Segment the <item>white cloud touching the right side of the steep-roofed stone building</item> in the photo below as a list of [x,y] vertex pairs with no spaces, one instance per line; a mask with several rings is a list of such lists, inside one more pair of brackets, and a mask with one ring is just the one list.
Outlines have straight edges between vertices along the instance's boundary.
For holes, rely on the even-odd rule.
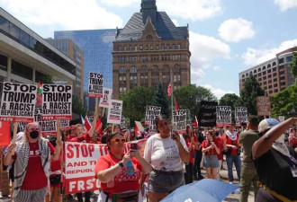
[[205,75],[203,69],[210,67],[213,59],[230,58],[228,44],[193,31],[190,31],[190,51],[192,83],[197,83]]

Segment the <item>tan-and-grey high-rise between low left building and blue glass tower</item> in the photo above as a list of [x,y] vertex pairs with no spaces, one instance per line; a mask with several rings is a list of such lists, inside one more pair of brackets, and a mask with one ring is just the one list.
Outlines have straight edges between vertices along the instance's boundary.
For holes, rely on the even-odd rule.
[[69,39],[46,40],[76,62],[76,80],[72,85],[73,93],[84,101],[84,51]]

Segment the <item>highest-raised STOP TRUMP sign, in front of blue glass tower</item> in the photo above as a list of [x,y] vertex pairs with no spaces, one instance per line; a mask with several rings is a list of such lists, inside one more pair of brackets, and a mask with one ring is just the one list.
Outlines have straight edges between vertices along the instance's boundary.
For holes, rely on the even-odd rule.
[[90,72],[88,96],[93,98],[103,97],[103,75]]

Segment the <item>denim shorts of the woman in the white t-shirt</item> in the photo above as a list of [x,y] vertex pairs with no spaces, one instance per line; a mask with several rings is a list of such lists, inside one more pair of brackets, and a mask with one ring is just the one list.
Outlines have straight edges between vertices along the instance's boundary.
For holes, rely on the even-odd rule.
[[149,172],[148,190],[156,193],[170,193],[184,185],[183,171],[157,171]]

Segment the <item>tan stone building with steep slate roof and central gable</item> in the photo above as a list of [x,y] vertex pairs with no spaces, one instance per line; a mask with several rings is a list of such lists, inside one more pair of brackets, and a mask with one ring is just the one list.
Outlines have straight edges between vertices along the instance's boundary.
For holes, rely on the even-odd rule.
[[142,0],[113,42],[113,97],[135,86],[167,87],[170,71],[174,87],[191,83],[188,26],[176,27],[165,12],[157,12],[156,0]]

